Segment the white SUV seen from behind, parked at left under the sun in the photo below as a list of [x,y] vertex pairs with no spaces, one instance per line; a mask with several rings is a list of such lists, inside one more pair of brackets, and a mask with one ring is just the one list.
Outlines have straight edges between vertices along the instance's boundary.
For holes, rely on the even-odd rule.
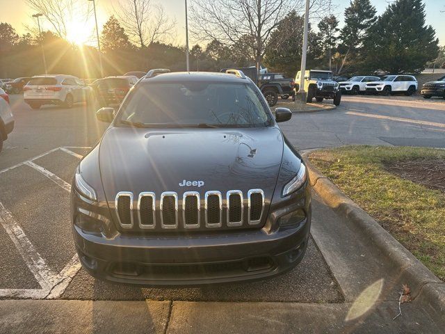
[[72,75],[42,75],[32,77],[23,88],[24,100],[32,109],[43,104],[63,105],[71,108],[76,102],[90,102],[92,88]]

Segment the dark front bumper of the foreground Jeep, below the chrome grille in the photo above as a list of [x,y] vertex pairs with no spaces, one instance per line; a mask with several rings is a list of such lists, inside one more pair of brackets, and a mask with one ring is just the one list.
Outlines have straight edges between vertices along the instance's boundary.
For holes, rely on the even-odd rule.
[[[261,229],[121,234],[110,222],[111,232],[104,234],[73,224],[74,244],[86,271],[115,283],[194,286],[270,278],[296,267],[305,254],[311,205],[309,186],[304,188],[289,205],[277,207]],[[75,190],[72,200],[75,220],[79,210]],[[305,211],[302,221],[282,230],[270,228],[297,209]]]

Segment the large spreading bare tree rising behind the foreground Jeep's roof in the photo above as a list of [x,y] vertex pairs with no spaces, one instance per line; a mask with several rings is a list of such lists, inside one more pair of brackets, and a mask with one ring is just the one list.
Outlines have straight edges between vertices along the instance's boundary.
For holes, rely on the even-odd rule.
[[[191,6],[191,31],[197,40],[218,40],[227,46],[243,38],[249,43],[259,69],[270,34],[291,10],[302,13],[304,3],[304,0],[195,0]],[[324,0],[312,0],[312,18],[326,10]],[[289,29],[282,38],[291,38],[293,31]]]

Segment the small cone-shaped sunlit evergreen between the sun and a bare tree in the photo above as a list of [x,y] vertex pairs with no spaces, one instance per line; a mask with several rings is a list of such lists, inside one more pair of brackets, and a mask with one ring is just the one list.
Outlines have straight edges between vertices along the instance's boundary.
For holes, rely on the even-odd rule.
[[104,24],[100,41],[104,52],[125,51],[132,47],[124,28],[113,15]]

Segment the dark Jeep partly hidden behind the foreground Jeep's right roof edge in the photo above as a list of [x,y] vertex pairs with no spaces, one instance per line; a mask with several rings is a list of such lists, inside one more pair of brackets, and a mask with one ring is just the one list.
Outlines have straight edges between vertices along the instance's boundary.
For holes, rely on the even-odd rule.
[[293,79],[285,78],[282,73],[266,73],[257,74],[256,67],[238,67],[234,69],[224,68],[221,72],[227,73],[229,70],[240,70],[247,77],[257,84],[261,93],[266,97],[269,106],[275,106],[278,102],[278,97],[286,100],[289,96],[293,97]]

